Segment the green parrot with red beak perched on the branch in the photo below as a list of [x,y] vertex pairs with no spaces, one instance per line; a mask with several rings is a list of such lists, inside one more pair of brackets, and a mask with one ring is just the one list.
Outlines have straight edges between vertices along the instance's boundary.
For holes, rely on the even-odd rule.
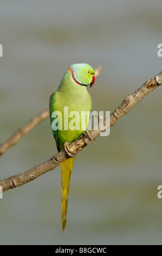
[[[86,87],[93,86],[95,81],[94,75],[93,68],[88,64],[72,64],[64,73],[59,88],[50,96],[50,123],[58,151],[64,149],[64,145],[67,142],[76,141],[87,130],[90,112],[92,111],[92,101]],[[85,119],[82,118],[84,111],[87,113]],[[79,115],[76,115],[76,112]],[[62,233],[67,223],[70,175],[73,170],[74,160],[74,157],[70,157],[60,164]]]

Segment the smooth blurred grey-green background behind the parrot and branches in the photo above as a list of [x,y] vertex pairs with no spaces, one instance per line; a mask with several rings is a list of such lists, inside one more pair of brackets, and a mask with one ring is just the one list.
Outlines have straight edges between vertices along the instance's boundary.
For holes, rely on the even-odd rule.
[[[161,0],[0,2],[0,142],[48,107],[70,64],[102,72],[92,108],[113,111],[162,70]],[[60,167],[0,199],[1,245],[162,244],[161,88],[77,154],[67,227]],[[49,120],[0,159],[0,179],[57,153]]]

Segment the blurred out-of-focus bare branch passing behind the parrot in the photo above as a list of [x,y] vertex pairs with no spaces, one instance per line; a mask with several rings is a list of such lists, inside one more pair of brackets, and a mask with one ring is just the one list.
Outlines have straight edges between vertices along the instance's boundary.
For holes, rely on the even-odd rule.
[[[101,66],[95,69],[95,78],[100,75],[101,69]],[[46,120],[48,117],[49,108],[36,115],[36,117],[32,118],[27,124],[22,126],[21,129],[16,131],[7,141],[0,145],[0,156],[2,156],[10,147],[16,145],[24,135],[33,130],[38,124]]]

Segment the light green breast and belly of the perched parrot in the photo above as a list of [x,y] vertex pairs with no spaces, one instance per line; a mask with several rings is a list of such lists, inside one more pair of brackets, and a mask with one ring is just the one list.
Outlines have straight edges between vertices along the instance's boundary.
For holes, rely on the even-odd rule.
[[91,105],[90,95],[85,86],[76,86],[75,84],[70,84],[69,86],[68,83],[67,86],[59,87],[51,95],[51,124],[55,120],[55,118],[51,117],[54,111],[59,111],[62,114],[62,116],[57,117],[58,124],[62,124],[62,130],[53,131],[54,136],[57,136],[59,141],[60,150],[63,149],[65,141],[75,141],[87,129]]

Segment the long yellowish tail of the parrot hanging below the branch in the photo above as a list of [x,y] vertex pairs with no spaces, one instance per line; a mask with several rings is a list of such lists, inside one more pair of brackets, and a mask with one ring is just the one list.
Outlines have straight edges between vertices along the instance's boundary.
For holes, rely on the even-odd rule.
[[69,187],[70,187],[70,176],[73,170],[74,165],[74,158],[69,158],[60,164],[61,170],[61,224],[62,224],[62,233],[64,228],[66,227],[66,216],[67,216],[67,209],[68,209],[68,194],[69,194]]

